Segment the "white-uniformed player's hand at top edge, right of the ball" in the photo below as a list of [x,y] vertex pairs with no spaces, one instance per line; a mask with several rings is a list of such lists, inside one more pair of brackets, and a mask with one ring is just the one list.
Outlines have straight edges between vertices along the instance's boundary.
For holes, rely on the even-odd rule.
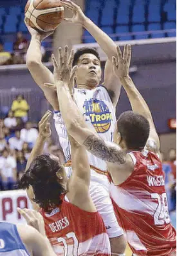
[[61,3],[64,7],[68,8],[69,10],[71,10],[71,12],[73,12],[73,17],[65,18],[64,21],[84,25],[84,21],[86,20],[87,17],[84,15],[84,12],[82,12],[82,9],[80,8],[80,6],[76,5],[70,0],[68,1],[61,0]]

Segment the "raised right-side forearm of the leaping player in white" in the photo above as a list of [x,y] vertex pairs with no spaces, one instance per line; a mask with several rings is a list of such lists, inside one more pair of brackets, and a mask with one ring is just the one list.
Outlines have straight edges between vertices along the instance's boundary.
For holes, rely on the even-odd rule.
[[85,19],[83,27],[88,30],[88,32],[95,38],[100,48],[106,53],[107,57],[111,59],[116,56],[116,44],[115,42],[107,36],[100,28],[93,23],[88,17]]

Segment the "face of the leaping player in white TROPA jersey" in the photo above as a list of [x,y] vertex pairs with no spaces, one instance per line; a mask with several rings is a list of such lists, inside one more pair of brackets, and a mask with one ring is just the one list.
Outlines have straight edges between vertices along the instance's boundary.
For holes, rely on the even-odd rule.
[[78,87],[94,88],[101,80],[101,67],[99,59],[93,54],[83,54],[77,63],[76,81]]

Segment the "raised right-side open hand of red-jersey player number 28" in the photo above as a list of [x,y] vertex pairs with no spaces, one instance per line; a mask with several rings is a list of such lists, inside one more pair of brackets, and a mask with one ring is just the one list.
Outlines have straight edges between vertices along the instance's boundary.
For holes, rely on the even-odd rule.
[[131,63],[131,45],[126,45],[124,47],[124,54],[119,47],[117,48],[117,56],[112,59],[113,62],[113,72],[118,78],[126,78],[129,76],[129,67]]

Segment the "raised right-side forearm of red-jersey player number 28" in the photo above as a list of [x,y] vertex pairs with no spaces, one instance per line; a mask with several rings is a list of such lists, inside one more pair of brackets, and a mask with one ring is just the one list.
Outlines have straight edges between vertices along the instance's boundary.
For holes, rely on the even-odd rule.
[[130,77],[126,77],[121,78],[120,81],[122,82],[122,86],[127,93],[132,110],[138,114],[142,114],[142,116],[147,119],[152,118],[151,111],[149,110],[147,103],[145,102],[138,89],[136,89],[133,80],[131,80]]

